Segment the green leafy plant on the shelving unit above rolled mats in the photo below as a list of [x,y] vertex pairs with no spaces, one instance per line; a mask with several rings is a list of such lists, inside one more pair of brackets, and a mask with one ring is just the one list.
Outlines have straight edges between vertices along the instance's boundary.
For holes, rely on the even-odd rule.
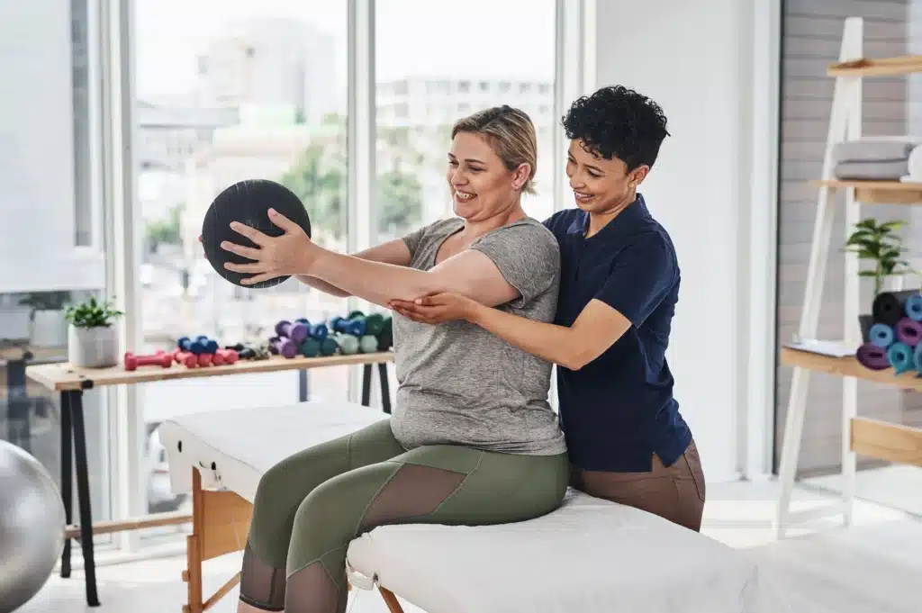
[[903,246],[902,237],[896,233],[905,225],[902,219],[882,223],[874,218],[862,219],[855,224],[856,230],[845,242],[846,252],[857,253],[858,259],[869,260],[873,264],[872,268],[858,272],[858,276],[874,279],[874,296],[881,293],[886,277],[916,272],[903,259],[903,253],[908,250]]

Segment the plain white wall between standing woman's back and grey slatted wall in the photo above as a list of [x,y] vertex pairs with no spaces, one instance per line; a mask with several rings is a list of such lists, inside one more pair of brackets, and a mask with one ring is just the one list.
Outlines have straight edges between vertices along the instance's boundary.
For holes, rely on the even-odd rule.
[[[774,156],[772,138],[751,141],[759,81],[752,76],[753,41],[765,39],[753,28],[760,2],[772,4],[597,0],[596,6],[595,85],[636,88],[668,117],[672,136],[642,192],[679,253],[682,287],[668,360],[709,481],[751,468],[744,446],[748,390],[757,383],[748,379],[750,352],[761,351],[774,368],[765,355],[770,349],[750,337],[750,266],[767,259],[751,252],[767,244],[767,235],[750,230],[753,202],[765,204],[751,196],[752,164]],[[771,270],[762,274],[774,277]],[[765,311],[774,312],[771,306]],[[760,436],[768,421],[760,422]]]

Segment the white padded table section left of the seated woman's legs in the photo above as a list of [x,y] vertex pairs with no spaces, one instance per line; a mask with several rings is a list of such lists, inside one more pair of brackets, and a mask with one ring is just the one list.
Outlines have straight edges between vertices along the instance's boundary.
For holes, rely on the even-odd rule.
[[359,404],[302,402],[183,415],[160,424],[159,434],[173,493],[192,491],[197,466],[203,489],[230,489],[253,502],[260,477],[278,461],[384,418],[379,409]]

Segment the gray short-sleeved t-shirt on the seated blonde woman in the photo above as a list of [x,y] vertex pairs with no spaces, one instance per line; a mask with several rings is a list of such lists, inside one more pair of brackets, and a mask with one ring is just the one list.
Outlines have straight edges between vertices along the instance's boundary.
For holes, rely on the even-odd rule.
[[[464,227],[443,219],[408,234],[410,266],[428,270],[442,243]],[[520,297],[502,311],[552,322],[560,285],[557,240],[526,218],[480,237]],[[468,322],[419,324],[394,314],[397,395],[391,429],[405,448],[461,444],[508,454],[561,454],[563,434],[548,402],[551,364]]]

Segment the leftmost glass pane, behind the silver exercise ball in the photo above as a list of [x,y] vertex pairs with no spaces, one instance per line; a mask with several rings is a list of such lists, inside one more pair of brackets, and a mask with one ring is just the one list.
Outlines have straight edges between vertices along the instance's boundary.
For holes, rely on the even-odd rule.
[[[85,1],[0,4],[0,440],[31,454],[61,486],[59,395],[30,380],[30,366],[67,360],[65,307],[102,289],[68,287],[74,248],[89,243],[89,58]],[[28,35],[23,35],[28,32]],[[41,75],[41,78],[36,78]],[[48,181],[48,177],[55,177]],[[28,277],[10,274],[27,261]],[[98,262],[84,265],[81,273]],[[99,273],[99,270],[95,272]],[[99,277],[102,277],[99,275]],[[21,283],[20,283],[21,281]],[[83,395],[90,507],[112,518],[105,396]],[[72,456],[72,521],[78,522]],[[110,536],[94,538],[104,548]],[[79,545],[73,542],[75,566]]]

